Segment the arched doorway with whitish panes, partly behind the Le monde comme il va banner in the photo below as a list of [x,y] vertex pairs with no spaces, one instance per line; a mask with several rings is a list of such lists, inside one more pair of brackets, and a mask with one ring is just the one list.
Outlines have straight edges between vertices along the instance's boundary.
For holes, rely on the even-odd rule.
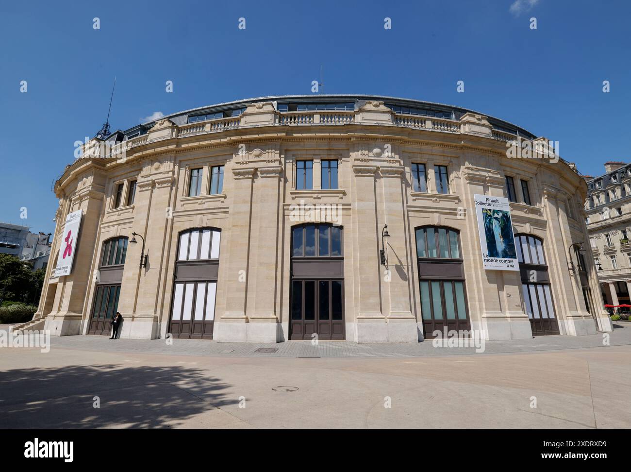
[[531,234],[515,235],[521,288],[533,336],[559,334],[554,312],[543,240]]

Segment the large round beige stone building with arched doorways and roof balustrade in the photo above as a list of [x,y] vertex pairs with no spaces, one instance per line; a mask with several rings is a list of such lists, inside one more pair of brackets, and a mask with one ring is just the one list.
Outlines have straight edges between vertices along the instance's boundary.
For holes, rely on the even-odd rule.
[[[511,143],[545,138],[365,95],[251,98],[92,139],[54,186],[52,259],[30,326],[107,335],[118,310],[121,337],[142,339],[610,331],[591,253],[579,251],[586,182],[558,156],[509,155]],[[485,269],[480,196],[510,201],[509,226],[492,236],[519,259],[510,270]]]

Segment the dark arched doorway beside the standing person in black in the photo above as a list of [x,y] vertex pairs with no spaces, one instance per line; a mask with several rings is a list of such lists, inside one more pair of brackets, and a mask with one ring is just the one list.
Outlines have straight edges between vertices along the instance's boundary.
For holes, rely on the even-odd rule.
[[112,316],[121,296],[122,272],[127,256],[127,237],[114,237],[103,242],[98,265],[98,281],[88,334],[109,334]]

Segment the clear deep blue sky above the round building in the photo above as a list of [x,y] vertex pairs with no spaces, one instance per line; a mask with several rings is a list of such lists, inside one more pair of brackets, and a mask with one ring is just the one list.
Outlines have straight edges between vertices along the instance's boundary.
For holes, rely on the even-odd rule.
[[[94,136],[105,121],[114,76],[110,124],[126,129],[155,112],[310,93],[322,64],[326,93],[478,110],[559,141],[561,156],[581,172],[602,174],[606,160],[630,158],[630,4],[3,2],[0,221],[54,230],[50,184],[73,161],[74,141]],[[237,28],[240,17],[245,30]],[[167,80],[174,93],[165,92]]]

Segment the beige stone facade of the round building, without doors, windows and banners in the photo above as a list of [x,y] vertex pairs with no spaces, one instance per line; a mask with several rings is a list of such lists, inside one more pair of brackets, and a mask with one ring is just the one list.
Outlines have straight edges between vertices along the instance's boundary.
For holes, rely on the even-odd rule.
[[[512,223],[515,233],[543,242],[560,334],[611,330],[591,255],[582,274],[568,264],[570,245],[587,244],[582,204],[587,186],[574,167],[563,160],[507,158],[507,142],[517,135],[498,126],[497,119],[468,110],[454,109],[451,117],[411,115],[386,106],[385,97],[352,97],[355,109],[343,111],[281,107],[292,100],[336,103],[348,102],[348,97],[245,100],[223,106],[242,107],[239,115],[201,121],[191,121],[193,112],[170,115],[144,125],[146,133],[117,146],[114,151],[122,150],[122,155],[103,151],[96,138],[90,141],[55,186],[54,258],[36,317],[52,334],[89,333],[100,302],[95,297],[99,277],[104,277],[105,243],[117,237],[131,240],[136,232],[146,240],[147,258],[141,266],[141,244],[127,247],[119,282],[118,310],[125,317],[121,337],[165,338],[177,298],[179,237],[191,228],[214,228],[221,243],[213,339],[290,339],[292,228],[304,223],[296,221],[297,208],[321,204],[339,213],[336,223],[343,228],[347,341],[423,339],[415,228],[424,226],[459,234],[471,328],[484,331],[487,339],[530,338],[520,273],[483,269],[473,203],[474,194],[506,196],[505,177],[510,175],[529,182],[531,204],[524,203],[518,189],[510,204]],[[406,103],[431,109],[425,102]],[[442,105],[435,108],[447,113]],[[301,160],[312,162],[312,188],[300,188]],[[337,162],[337,188],[324,188],[321,182],[325,160]],[[413,163],[425,164],[425,191],[413,188]],[[211,192],[213,167],[220,165],[223,188]],[[447,168],[447,193],[438,192],[435,166]],[[201,191],[194,194],[190,186],[199,168]],[[120,195],[124,199],[132,186],[133,203],[121,203]],[[83,209],[83,221],[73,271],[52,278],[64,218],[78,209]],[[386,224],[387,265],[382,265]],[[591,314],[582,286],[591,288]]]

